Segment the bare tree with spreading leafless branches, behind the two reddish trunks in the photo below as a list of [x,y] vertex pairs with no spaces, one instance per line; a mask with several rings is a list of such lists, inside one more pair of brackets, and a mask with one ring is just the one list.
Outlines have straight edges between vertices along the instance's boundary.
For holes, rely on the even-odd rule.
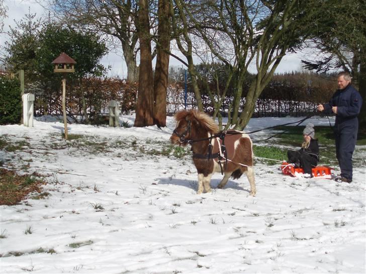
[[[137,2],[133,0],[52,0],[51,9],[64,22],[104,34],[122,46],[127,65],[127,80],[138,81]],[[111,39],[112,38],[112,39]]]

